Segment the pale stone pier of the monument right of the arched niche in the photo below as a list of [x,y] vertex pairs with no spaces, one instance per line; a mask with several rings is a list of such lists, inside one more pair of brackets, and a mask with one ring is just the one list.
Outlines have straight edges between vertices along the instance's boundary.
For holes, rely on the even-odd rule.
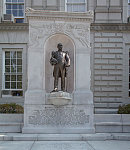
[[[74,104],[93,104],[93,93],[90,90],[90,23],[83,24],[82,28],[83,31],[81,32],[82,34],[80,34],[82,35],[82,42],[76,44]],[[77,41],[75,41],[75,43],[77,43]]]

